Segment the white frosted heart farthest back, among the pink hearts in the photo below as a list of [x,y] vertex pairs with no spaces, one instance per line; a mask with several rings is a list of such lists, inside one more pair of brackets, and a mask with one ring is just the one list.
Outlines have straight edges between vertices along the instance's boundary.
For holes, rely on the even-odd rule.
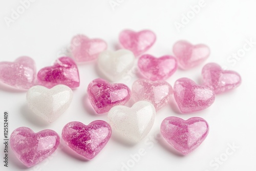
[[134,61],[133,52],[126,49],[103,51],[98,56],[98,69],[106,78],[114,82],[132,69]]

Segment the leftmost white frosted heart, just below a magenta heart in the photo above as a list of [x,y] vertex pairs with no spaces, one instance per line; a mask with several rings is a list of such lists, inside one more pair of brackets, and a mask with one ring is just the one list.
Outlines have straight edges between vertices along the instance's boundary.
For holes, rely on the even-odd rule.
[[34,114],[50,123],[69,108],[72,98],[73,91],[62,84],[51,89],[34,86],[27,92],[29,108]]

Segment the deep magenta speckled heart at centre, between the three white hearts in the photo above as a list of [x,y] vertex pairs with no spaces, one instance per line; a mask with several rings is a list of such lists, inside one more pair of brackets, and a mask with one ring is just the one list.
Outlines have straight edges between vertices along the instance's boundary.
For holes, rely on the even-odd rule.
[[87,93],[98,114],[109,112],[115,105],[124,105],[131,97],[131,91],[125,84],[110,84],[101,78],[90,82]]

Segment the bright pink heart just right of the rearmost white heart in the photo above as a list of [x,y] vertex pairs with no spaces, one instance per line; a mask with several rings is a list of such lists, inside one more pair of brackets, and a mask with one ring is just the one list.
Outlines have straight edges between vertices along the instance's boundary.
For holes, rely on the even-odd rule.
[[150,80],[165,80],[177,70],[177,59],[173,56],[155,58],[151,55],[142,55],[138,60],[141,74]]

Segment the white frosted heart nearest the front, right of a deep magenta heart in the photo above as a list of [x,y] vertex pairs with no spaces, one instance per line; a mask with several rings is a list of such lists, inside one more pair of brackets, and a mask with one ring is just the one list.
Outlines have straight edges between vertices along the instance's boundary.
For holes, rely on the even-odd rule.
[[156,110],[153,104],[138,101],[132,108],[123,105],[114,106],[108,113],[108,121],[114,134],[136,143],[150,132],[155,116]]

